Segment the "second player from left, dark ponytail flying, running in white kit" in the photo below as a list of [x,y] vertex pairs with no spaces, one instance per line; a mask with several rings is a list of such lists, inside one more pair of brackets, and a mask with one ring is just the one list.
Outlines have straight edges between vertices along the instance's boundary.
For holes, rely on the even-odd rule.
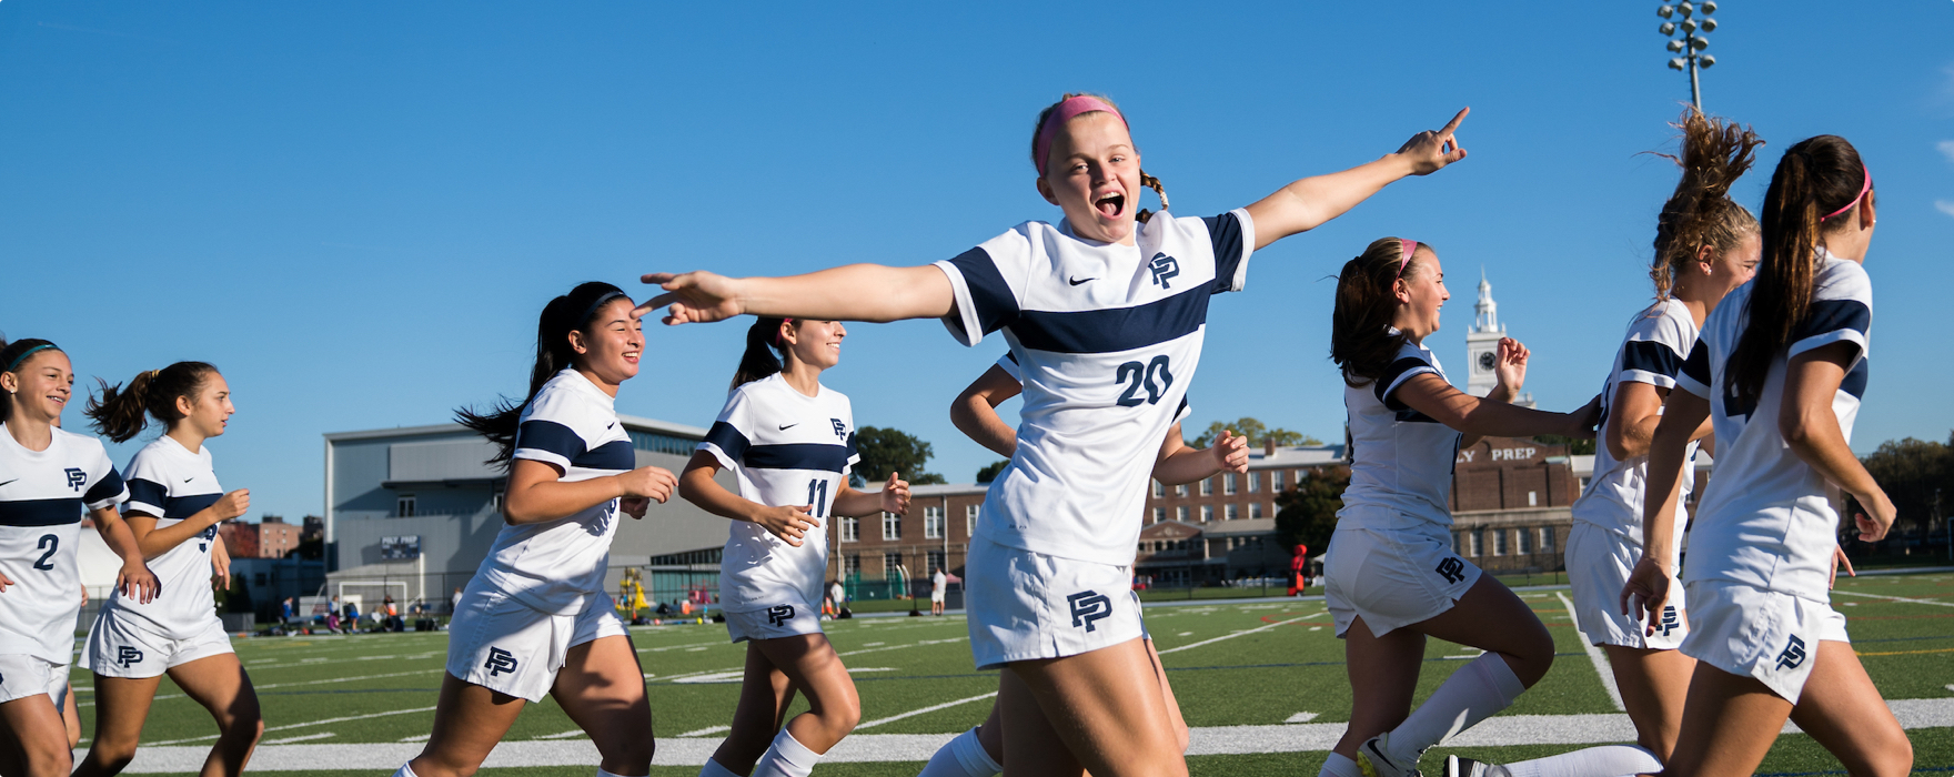
[[82,666],[96,675],[96,734],[76,775],[115,775],[135,759],[164,674],[217,720],[207,777],[242,773],[258,748],[258,693],[211,595],[215,562],[229,566],[217,525],[250,510],[250,490],[227,494],[217,484],[205,445],[225,433],[234,412],[231,385],[203,361],[149,369],[127,387],[102,383],[102,396],[88,402],[96,431],[117,443],[143,433],[150,418],[164,426],[125,470],[125,521],[162,593],[152,601],[109,593],[88,629]]

